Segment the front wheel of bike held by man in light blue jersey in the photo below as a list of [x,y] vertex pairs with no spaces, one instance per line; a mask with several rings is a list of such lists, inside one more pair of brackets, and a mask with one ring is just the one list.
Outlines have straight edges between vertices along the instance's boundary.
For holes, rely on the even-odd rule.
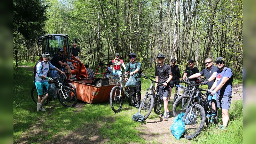
[[75,107],[77,103],[76,92],[68,86],[62,86],[61,90],[58,90],[58,99],[60,103],[64,107]]

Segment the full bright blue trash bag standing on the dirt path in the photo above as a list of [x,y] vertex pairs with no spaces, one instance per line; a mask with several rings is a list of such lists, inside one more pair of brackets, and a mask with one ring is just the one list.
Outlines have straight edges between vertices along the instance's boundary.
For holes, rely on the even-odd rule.
[[174,118],[173,123],[171,125],[172,135],[177,140],[180,140],[180,137],[183,135],[185,131],[185,124],[182,121],[183,116],[184,116],[184,113],[180,113],[178,116]]

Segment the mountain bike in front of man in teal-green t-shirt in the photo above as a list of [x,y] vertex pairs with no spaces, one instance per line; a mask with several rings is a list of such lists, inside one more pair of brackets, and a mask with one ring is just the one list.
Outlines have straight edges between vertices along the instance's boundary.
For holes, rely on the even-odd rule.
[[121,111],[123,106],[123,97],[125,99],[128,99],[128,103],[130,106],[134,105],[130,88],[124,87],[125,82],[123,76],[125,75],[127,76],[130,74],[113,75],[114,79],[117,79],[119,77],[119,81],[117,81],[116,86],[111,89],[109,96],[110,107],[115,113]]

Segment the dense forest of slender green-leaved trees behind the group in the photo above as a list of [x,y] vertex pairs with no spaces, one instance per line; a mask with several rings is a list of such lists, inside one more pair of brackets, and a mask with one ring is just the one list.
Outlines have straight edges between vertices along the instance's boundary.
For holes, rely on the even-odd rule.
[[120,53],[125,63],[135,52],[142,68],[177,59],[181,71],[193,59],[224,57],[226,66],[243,70],[242,0],[14,0],[13,58],[35,62],[42,53],[38,37],[68,34],[77,38],[80,60],[91,68]]

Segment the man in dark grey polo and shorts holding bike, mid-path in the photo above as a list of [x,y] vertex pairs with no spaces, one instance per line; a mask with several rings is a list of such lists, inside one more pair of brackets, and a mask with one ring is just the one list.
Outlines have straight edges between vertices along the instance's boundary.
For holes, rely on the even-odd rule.
[[[163,85],[158,86],[159,96],[164,101],[164,114],[160,115],[164,116],[164,121],[168,120],[168,116],[170,116],[170,111],[168,108],[168,96],[169,96],[169,85],[172,80],[172,70],[171,67],[164,63],[164,54],[158,54],[157,61],[159,65],[156,67],[155,76],[156,82],[163,83]],[[157,83],[155,83],[155,90],[157,89]],[[156,91],[155,91],[156,92]]]

